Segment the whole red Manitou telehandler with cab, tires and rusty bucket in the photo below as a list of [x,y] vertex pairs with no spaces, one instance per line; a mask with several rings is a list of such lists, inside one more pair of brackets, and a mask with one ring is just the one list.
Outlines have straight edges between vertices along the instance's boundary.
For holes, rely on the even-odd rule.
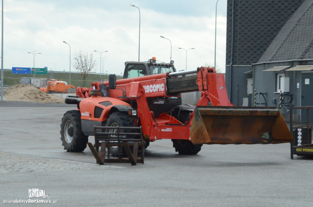
[[[223,74],[208,67],[176,72],[172,63],[126,62],[123,79],[110,75],[109,81],[93,82],[90,88],[77,87],[77,96],[65,99],[77,110],[67,111],[62,118],[64,149],[82,152],[88,136],[116,132],[117,126],[122,127],[121,133],[130,133],[125,139],[139,139],[132,134],[134,127],[141,127],[144,147],[171,139],[179,154],[197,154],[203,144],[293,141],[277,108],[236,107],[228,100]],[[191,91],[202,91],[197,105],[182,105],[181,93]],[[106,128],[96,128],[101,126]],[[120,152],[109,149],[113,156]]]

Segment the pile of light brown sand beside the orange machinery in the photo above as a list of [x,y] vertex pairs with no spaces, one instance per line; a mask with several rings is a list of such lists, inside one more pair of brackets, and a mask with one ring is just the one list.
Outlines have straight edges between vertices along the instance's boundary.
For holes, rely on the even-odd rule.
[[3,90],[4,101],[26,101],[34,103],[64,103],[65,98],[46,94],[30,84],[18,84]]

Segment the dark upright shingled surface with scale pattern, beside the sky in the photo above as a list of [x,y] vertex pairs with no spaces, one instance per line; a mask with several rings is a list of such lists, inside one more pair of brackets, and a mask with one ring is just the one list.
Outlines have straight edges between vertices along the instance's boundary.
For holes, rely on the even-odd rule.
[[[231,60],[232,0],[227,1],[226,65]],[[233,65],[256,63],[304,0],[234,0]]]

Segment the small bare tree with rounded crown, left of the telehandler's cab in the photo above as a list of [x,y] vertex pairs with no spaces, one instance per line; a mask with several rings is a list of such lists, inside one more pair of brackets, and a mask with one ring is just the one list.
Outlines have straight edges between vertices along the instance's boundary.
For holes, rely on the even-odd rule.
[[86,54],[80,49],[78,52],[76,51],[76,54],[74,54],[74,61],[73,65],[76,68],[77,72],[80,73],[81,77],[84,81],[84,87],[85,87],[85,81],[88,78],[89,73],[92,73],[95,71],[95,66],[97,65],[95,63],[96,61],[93,59],[93,55]]

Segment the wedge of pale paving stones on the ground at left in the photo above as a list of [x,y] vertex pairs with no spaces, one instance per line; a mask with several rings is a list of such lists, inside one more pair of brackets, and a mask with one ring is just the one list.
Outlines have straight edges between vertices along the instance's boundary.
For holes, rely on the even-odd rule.
[[0,152],[0,160],[0,173],[123,168],[118,166],[81,163],[69,160],[42,158],[2,152]]

